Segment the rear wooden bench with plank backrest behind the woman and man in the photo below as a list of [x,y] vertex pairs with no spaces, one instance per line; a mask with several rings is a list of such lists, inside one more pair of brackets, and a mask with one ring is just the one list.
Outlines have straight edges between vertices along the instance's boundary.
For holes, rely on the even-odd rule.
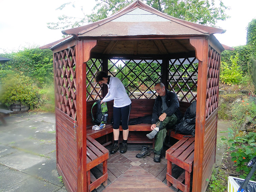
[[[104,129],[98,130],[98,131],[94,131],[92,130],[93,127],[93,122],[92,122],[92,118],[91,118],[91,107],[93,106],[93,103],[95,101],[87,101],[87,109],[86,109],[86,113],[89,114],[86,117],[87,120],[87,126],[86,126],[86,131],[87,131],[87,135],[91,136],[93,138],[99,138],[102,136],[105,136],[104,138],[104,144],[103,146],[109,145],[111,144],[111,141],[109,141],[109,137],[108,134],[113,132],[113,126],[110,123],[111,122],[111,118],[113,117],[113,101],[108,102],[108,113],[109,113],[109,117],[108,117],[108,122],[105,126]],[[131,112],[130,112],[130,117],[129,119],[133,119],[133,118],[137,118],[137,117],[143,117],[146,115],[152,115],[153,112],[153,106],[155,103],[155,99],[131,99]],[[180,102],[180,111],[182,114],[185,113],[186,109],[189,107],[190,103],[187,102]],[[96,107],[94,107],[93,109],[93,114],[94,117],[96,116]],[[152,143],[153,147],[154,147],[154,139],[148,139],[146,137],[146,134],[143,134],[143,136],[139,137],[139,134],[132,134],[133,131],[147,131],[147,132],[151,132],[152,130],[151,128],[151,123],[145,124],[145,123],[140,123],[140,124],[135,124],[135,125],[129,125],[129,139],[128,139],[128,143]],[[120,131],[123,131],[122,126],[119,127]],[[168,129],[167,130],[167,135],[176,139],[181,139],[183,138],[184,135],[179,134],[179,133],[175,133],[174,130]],[[120,135],[120,138],[122,138],[122,136]]]

